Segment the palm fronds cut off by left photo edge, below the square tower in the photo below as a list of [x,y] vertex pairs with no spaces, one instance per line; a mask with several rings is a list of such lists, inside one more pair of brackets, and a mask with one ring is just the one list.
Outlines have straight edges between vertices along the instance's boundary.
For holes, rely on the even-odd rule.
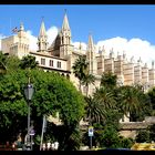
[[4,74],[7,72],[7,55],[0,51],[0,74]]

